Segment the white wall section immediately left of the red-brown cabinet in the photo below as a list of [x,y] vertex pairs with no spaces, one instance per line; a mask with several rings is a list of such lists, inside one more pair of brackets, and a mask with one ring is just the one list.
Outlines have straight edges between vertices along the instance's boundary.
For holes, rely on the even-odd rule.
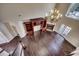
[[16,27],[16,30],[21,38],[23,38],[26,35],[23,21],[13,21],[11,22],[11,24]]

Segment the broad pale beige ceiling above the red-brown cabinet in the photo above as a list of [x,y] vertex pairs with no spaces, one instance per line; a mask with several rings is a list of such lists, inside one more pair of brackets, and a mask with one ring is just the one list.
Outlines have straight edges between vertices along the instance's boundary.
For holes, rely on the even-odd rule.
[[[0,20],[26,20],[44,17],[54,6],[53,3],[0,4]],[[18,15],[21,15],[21,17],[18,17]]]

